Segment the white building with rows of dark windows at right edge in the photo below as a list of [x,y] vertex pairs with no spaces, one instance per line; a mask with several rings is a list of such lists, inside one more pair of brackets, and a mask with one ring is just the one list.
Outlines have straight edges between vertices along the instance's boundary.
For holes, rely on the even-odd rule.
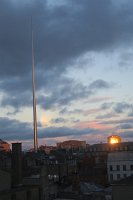
[[133,175],[133,151],[109,153],[107,170],[109,182]]

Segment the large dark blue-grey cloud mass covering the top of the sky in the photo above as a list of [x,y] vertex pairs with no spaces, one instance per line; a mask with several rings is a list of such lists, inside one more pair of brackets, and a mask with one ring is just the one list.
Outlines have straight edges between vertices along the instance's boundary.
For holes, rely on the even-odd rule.
[[[10,104],[15,105],[18,92],[23,100],[26,99],[27,91],[31,89],[31,15],[37,89],[46,87],[50,90],[52,83],[48,79],[53,80],[53,74],[54,79],[60,78],[75,58],[88,51],[102,51],[131,41],[132,8],[132,1],[118,7],[111,0],[100,3],[98,0],[72,0],[61,6],[48,7],[42,0],[19,3],[1,0],[0,89],[8,95],[13,92]],[[91,85],[91,88],[97,87],[108,88],[108,85],[99,80]],[[20,103],[16,102],[16,105],[29,104],[30,99],[27,98],[26,103],[18,99]],[[65,103],[66,100],[62,98],[61,101]],[[2,105],[6,103],[7,96]]]

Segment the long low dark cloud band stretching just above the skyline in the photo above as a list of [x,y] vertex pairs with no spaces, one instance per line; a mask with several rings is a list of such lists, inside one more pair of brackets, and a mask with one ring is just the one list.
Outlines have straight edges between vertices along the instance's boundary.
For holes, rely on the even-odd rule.
[[[123,123],[121,124],[121,129],[130,129],[132,128],[133,119],[130,119],[130,121],[127,120],[121,120],[121,121],[110,121],[110,123],[114,122],[114,124],[117,123]],[[126,123],[127,124],[126,124]],[[23,141],[23,140],[33,140],[33,128],[32,124],[26,123],[26,122],[20,122],[18,120],[12,120],[9,118],[0,118],[0,135],[1,139],[3,140],[10,140],[10,141]],[[120,126],[119,126],[120,128]],[[58,138],[58,137],[81,137],[83,135],[90,135],[91,137],[97,137],[97,135],[103,135],[110,134],[111,130],[98,130],[93,128],[68,128],[65,126],[62,127],[41,127],[40,124],[38,124],[38,139],[41,138]],[[123,138],[128,138],[129,136],[132,137],[132,131],[126,131],[124,133],[120,133]]]

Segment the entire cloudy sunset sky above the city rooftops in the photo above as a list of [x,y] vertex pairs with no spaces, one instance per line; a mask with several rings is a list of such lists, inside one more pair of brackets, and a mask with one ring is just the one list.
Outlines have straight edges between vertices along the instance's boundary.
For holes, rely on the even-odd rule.
[[0,138],[33,146],[133,141],[133,1],[0,1]]

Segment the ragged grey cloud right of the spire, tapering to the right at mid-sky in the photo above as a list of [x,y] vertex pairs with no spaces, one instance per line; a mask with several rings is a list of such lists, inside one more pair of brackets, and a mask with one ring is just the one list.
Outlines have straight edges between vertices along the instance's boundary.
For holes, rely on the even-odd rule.
[[[53,106],[67,106],[75,100],[78,101],[84,98],[87,99],[102,89],[111,88],[111,84],[103,80],[96,80],[89,86],[84,86],[82,83],[76,83],[71,79],[66,80],[65,84],[64,82],[62,82],[61,85],[54,84],[51,94],[46,96],[41,95],[39,97],[39,103],[42,104],[42,107],[49,109]],[[79,112],[79,110],[77,111]]]

